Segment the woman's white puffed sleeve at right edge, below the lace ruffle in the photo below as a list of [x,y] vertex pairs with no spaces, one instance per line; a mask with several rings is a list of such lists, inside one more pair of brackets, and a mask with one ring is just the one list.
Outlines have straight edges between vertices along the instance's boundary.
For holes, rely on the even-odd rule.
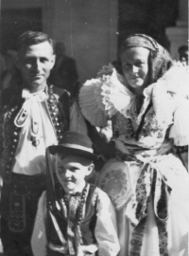
[[178,103],[169,137],[174,139],[175,146],[185,146],[189,144],[189,100],[181,96],[176,100]]

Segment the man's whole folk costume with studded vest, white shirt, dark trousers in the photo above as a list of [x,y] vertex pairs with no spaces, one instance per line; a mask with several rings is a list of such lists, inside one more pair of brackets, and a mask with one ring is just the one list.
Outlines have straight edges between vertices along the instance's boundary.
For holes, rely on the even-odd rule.
[[[14,242],[30,241],[39,196],[45,188],[46,147],[57,144],[67,130],[87,133],[84,119],[69,94],[54,86],[31,94],[21,86],[4,92],[1,99],[1,231],[4,245],[16,253]],[[28,229],[27,229],[28,225]],[[25,247],[28,255],[30,247]]]

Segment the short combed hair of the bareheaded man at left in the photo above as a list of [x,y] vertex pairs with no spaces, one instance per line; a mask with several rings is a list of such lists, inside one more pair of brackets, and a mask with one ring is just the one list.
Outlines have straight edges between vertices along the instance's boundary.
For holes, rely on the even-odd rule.
[[23,47],[38,45],[43,42],[48,42],[54,52],[54,41],[47,34],[40,31],[26,31],[18,38],[17,49],[19,51]]

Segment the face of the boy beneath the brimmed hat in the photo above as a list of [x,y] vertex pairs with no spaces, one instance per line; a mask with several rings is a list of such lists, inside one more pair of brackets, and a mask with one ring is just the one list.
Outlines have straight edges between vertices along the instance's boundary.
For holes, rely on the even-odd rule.
[[65,192],[72,193],[83,189],[85,176],[93,170],[94,164],[83,157],[70,155],[61,158],[56,155],[56,174]]

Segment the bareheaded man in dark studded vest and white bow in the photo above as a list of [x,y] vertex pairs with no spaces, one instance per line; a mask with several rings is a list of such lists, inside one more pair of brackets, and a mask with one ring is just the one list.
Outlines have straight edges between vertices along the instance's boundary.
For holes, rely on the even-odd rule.
[[62,134],[86,134],[76,103],[47,85],[55,64],[53,41],[26,31],[18,40],[22,84],[5,90],[0,105],[1,239],[5,255],[32,255],[30,237],[44,188],[45,149]]

